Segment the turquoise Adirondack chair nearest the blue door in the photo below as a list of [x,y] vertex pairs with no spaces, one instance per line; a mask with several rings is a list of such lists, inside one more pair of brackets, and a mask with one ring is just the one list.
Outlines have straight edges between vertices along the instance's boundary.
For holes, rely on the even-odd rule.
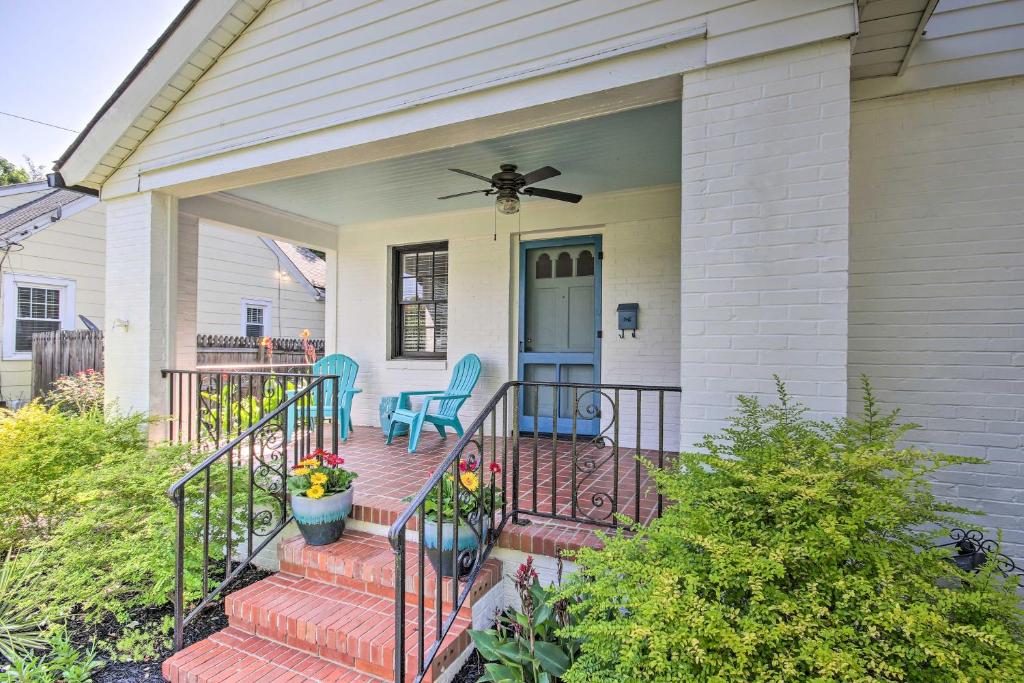
[[[387,442],[394,437],[394,429],[398,424],[409,425],[409,452],[416,453],[420,442],[420,431],[423,423],[429,422],[437,428],[444,438],[445,427],[455,429],[462,436],[462,423],[459,422],[459,409],[472,395],[476,381],[480,379],[480,358],[475,353],[469,353],[455,365],[452,371],[452,381],[447,389],[429,391],[402,391],[398,394],[398,408],[391,416],[391,427],[388,429]],[[419,410],[413,410],[411,396],[423,396],[423,404]],[[433,410],[431,410],[433,409]]]

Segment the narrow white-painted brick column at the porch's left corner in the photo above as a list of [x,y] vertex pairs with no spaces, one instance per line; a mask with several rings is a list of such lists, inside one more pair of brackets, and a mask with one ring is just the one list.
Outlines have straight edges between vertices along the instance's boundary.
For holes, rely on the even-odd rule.
[[[185,227],[186,234],[190,225]],[[194,261],[196,253],[187,258]],[[104,365],[109,409],[167,414],[166,384],[160,371],[177,361],[178,269],[188,265],[187,260],[178,259],[177,200],[143,193],[108,203]],[[188,306],[188,297],[180,301]],[[189,317],[188,311],[183,312]],[[195,319],[194,305],[190,318]],[[159,426],[153,433],[160,437],[164,431]]]

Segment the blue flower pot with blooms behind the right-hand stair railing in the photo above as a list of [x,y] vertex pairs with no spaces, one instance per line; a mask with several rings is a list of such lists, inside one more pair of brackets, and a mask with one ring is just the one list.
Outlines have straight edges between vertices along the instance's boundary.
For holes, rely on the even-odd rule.
[[[460,461],[458,486],[455,474],[445,472],[437,484],[440,500],[435,487],[424,502],[423,545],[434,570],[441,577],[458,574],[461,579],[470,572],[480,543],[489,530],[490,513],[502,506],[502,490],[495,481],[496,475],[502,471],[501,465],[490,463],[487,483],[482,481],[483,477],[477,469],[475,461]],[[456,488],[459,492],[458,501]],[[441,520],[440,548],[437,543],[438,517]],[[454,552],[457,518],[459,548],[458,552]]]

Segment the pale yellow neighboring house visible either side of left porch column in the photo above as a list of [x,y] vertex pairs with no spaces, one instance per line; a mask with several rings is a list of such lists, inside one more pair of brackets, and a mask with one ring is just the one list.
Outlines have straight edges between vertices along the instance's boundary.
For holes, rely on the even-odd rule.
[[[81,330],[86,319],[110,327],[105,209],[95,197],[45,181],[0,187],[0,398],[31,395],[33,332]],[[323,336],[321,256],[206,221],[197,239],[200,334]]]

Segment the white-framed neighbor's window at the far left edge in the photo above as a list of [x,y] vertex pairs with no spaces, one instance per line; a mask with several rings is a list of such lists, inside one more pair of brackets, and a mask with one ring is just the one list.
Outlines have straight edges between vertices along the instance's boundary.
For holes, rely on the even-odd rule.
[[3,275],[3,357],[32,357],[32,335],[75,329],[75,281],[45,275]]

